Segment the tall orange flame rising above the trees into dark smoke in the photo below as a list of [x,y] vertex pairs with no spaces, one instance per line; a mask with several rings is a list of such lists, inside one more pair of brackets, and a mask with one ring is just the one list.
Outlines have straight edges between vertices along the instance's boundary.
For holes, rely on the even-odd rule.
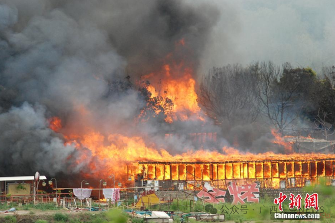
[[[185,39],[176,43],[175,51],[179,47],[185,47]],[[190,118],[204,121],[200,114],[198,95],[196,93],[196,82],[193,78],[194,70],[185,61],[174,61],[173,53],[166,56],[167,61],[160,70],[144,75],[143,79],[151,81],[148,90],[151,97],[163,96],[173,101],[172,112],[165,114],[167,123],[176,120],[186,121]],[[157,81],[156,77],[159,77]]]

